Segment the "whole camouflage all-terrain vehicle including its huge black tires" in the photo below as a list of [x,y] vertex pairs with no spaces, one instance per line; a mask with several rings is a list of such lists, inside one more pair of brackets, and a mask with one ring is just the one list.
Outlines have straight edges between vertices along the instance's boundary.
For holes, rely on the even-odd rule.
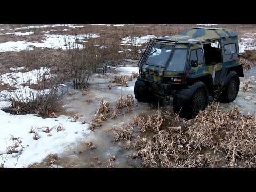
[[139,61],[134,94],[138,102],[173,97],[173,110],[193,118],[209,96],[233,102],[244,77],[238,35],[226,28],[195,27],[179,35],[151,39]]

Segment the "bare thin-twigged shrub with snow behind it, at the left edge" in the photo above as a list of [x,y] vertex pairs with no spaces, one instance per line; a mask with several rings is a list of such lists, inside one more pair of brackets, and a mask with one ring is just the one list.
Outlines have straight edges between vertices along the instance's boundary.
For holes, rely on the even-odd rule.
[[[31,76],[33,74],[30,74]],[[38,114],[38,115],[49,115],[58,111],[60,108],[62,93],[59,92],[61,85],[59,84],[58,77],[54,77],[51,74],[47,74],[47,87],[44,82],[41,81],[42,74],[38,74],[37,81],[38,86],[41,87],[39,90],[29,89],[23,87],[17,78],[10,77],[8,79],[9,84],[17,87],[15,92],[6,92],[3,94],[8,103],[8,107],[4,107],[2,110],[11,114]],[[23,78],[23,77],[20,77]],[[25,78],[25,77],[24,77]],[[28,83],[28,87],[31,85],[31,81]]]

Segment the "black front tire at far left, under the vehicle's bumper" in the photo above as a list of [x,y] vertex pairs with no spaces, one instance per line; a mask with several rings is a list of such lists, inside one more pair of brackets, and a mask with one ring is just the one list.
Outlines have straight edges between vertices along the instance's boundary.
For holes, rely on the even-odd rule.
[[[145,83],[141,80],[140,76],[136,79],[134,86],[134,95],[138,102],[157,103],[157,98],[147,90]],[[162,103],[163,99],[159,99]]]

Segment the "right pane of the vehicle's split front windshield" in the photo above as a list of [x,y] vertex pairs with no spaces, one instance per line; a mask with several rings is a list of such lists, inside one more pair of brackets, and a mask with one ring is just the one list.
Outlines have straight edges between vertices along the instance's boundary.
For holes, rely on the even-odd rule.
[[184,71],[187,52],[187,49],[175,49],[166,71]]

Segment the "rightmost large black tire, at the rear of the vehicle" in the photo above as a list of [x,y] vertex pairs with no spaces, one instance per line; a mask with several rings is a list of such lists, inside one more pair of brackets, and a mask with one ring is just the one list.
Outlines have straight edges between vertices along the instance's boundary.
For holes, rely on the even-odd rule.
[[233,102],[238,94],[240,87],[240,79],[235,71],[229,73],[223,83],[222,93],[219,96],[219,101],[222,103]]

